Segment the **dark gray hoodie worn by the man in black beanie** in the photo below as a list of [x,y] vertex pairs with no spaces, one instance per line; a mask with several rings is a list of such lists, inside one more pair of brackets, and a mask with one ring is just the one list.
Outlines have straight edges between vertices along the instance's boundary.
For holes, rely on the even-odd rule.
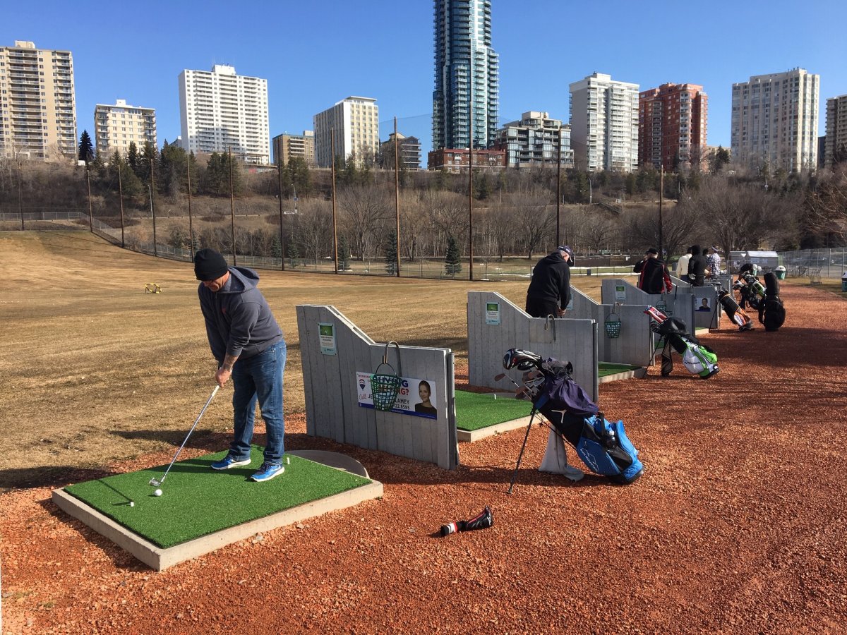
[[212,355],[219,364],[224,356],[249,359],[283,340],[268,302],[257,289],[258,274],[246,267],[230,267],[230,279],[215,292],[201,283],[200,308]]

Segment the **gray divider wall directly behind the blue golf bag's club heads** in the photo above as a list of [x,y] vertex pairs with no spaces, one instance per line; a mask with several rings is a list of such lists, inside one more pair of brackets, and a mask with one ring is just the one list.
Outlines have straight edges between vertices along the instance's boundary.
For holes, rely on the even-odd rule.
[[[487,323],[486,305],[499,306],[499,324]],[[508,373],[520,383],[517,368],[503,369],[503,355],[510,348],[523,348],[543,357],[571,362],[573,379],[597,400],[597,323],[593,319],[547,320],[529,315],[494,291],[468,291],[468,383],[474,386],[509,389]],[[513,388],[513,386],[512,386]]]

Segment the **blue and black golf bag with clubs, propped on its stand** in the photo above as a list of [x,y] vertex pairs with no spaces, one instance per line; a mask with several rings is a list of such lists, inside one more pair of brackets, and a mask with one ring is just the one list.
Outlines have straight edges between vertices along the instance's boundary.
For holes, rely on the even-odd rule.
[[623,429],[623,421],[612,423],[603,416],[582,386],[571,378],[573,366],[570,362],[559,362],[551,357],[542,361],[535,353],[518,351],[533,356],[529,362],[521,356],[510,355],[513,351],[515,349],[507,352],[503,366],[534,371],[527,373],[540,380],[531,394],[533,409],[544,415],[556,432],[573,445],[592,472],[624,484],[641,476],[644,466]]

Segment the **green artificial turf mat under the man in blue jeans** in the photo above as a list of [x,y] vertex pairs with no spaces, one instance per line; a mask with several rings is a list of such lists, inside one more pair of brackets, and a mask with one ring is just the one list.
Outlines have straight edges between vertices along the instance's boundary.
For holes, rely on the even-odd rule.
[[[284,474],[255,483],[249,477],[262,465],[261,448],[253,446],[248,466],[220,472],[209,467],[224,456],[225,451],[174,463],[161,485],[161,496],[154,496],[156,488],[148,483],[151,478],[161,479],[167,465],[77,483],[64,490],[141,538],[168,548],[371,483],[368,478],[290,455],[286,456],[291,465],[285,466]],[[130,507],[130,500],[135,506]]]

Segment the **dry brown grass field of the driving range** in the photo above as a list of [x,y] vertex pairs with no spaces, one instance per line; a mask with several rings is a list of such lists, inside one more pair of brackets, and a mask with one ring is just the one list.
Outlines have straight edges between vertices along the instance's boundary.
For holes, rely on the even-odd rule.
[[[8,439],[0,490],[180,444],[213,388],[191,264],[121,250],[85,231],[45,230],[0,234],[0,268]],[[527,285],[259,273],[288,345],[288,413],[304,409],[296,305],[333,305],[376,341],[451,348],[461,367],[467,291],[495,289],[522,306]],[[146,283],[162,293],[146,294]],[[575,284],[599,295],[597,278]],[[230,428],[230,391],[210,406],[197,440]]]

